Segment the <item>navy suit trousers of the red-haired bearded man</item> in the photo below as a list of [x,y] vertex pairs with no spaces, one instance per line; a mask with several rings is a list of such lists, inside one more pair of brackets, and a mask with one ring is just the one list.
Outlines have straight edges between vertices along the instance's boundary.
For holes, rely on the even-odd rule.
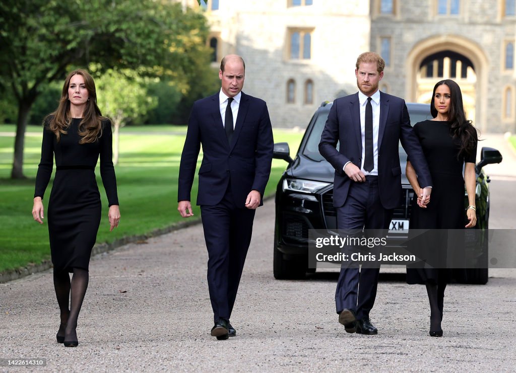
[[[375,229],[375,236],[385,236],[393,210],[384,209],[380,202],[378,176],[366,176],[365,182],[351,182],[344,205],[337,208],[337,228],[343,230]],[[341,266],[335,291],[337,313],[343,309],[356,312],[357,319],[369,316],[378,286],[380,265],[348,262]],[[374,268],[372,268],[374,267]]]

